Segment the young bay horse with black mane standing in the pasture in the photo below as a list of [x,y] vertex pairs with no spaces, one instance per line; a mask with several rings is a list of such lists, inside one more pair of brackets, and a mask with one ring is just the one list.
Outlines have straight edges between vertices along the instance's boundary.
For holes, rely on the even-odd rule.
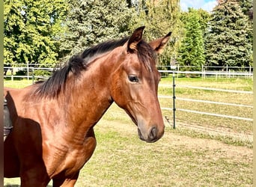
[[171,33],[146,43],[143,30],[86,49],[46,82],[4,88],[13,122],[4,177],[20,177],[21,186],[74,186],[96,147],[94,125],[112,102],[129,114],[141,140],[162,137],[156,55]]

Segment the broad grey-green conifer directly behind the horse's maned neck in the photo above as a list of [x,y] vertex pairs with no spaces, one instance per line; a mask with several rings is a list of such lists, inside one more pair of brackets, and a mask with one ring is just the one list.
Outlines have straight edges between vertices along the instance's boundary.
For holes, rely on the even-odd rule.
[[67,32],[61,39],[64,61],[96,43],[124,37],[135,11],[122,0],[70,0]]

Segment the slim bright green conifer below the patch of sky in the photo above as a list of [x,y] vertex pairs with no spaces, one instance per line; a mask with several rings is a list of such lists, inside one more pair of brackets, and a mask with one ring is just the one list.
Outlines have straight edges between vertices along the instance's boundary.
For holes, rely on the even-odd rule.
[[205,18],[201,15],[207,14],[193,8],[189,8],[189,12],[183,14],[185,36],[178,52],[178,62],[181,66],[194,66],[187,67],[187,70],[198,70],[205,63]]

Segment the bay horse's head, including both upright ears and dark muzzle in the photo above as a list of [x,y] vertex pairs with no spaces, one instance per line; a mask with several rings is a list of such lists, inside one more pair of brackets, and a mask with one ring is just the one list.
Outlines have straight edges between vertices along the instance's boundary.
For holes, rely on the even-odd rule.
[[157,98],[160,74],[156,55],[164,48],[171,33],[151,43],[142,40],[144,27],[137,28],[121,47],[118,69],[112,75],[112,99],[138,126],[141,140],[155,142],[164,133],[162,112]]

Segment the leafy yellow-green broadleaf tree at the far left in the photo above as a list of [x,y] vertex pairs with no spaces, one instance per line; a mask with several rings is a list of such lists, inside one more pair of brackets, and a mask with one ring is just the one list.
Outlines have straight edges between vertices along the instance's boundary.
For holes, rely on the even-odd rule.
[[4,64],[55,64],[64,0],[4,0]]

